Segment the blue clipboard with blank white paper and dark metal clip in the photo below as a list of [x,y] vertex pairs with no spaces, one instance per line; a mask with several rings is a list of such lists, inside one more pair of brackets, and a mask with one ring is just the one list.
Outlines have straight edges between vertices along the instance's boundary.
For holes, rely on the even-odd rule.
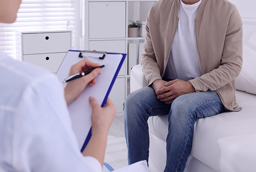
[[94,63],[100,63],[100,65],[108,64],[108,66],[102,68],[101,74],[97,76],[96,84],[94,86],[88,84],[80,96],[68,105],[72,128],[81,152],[83,152],[92,135],[92,107],[89,104],[89,96],[93,96],[102,107],[106,104],[125,57],[126,54],[121,53],[69,50],[56,72],[57,78],[62,83],[68,76],[69,68],[83,58],[87,58]]

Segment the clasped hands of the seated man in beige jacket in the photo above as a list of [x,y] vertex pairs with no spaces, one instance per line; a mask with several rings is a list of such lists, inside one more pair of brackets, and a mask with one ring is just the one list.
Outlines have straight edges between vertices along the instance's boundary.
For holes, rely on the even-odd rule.
[[190,82],[178,79],[169,81],[165,83],[164,86],[165,87],[156,91],[156,95],[160,101],[163,101],[166,104],[172,103],[175,98],[183,94],[196,92],[194,86],[192,86]]

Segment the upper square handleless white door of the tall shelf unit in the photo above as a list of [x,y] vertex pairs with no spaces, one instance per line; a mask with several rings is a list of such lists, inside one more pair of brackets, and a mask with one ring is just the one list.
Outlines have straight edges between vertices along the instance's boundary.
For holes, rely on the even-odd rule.
[[89,38],[125,38],[126,2],[89,2]]

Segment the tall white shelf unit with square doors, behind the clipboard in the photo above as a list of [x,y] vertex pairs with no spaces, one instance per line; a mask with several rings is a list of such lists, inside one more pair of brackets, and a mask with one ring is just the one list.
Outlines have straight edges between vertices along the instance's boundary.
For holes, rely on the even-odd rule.
[[[156,0],[85,0],[83,49],[127,53],[109,95],[117,107],[117,116],[123,115],[123,102],[130,93],[129,69],[139,63],[139,43],[145,40],[128,37],[129,20],[146,21],[154,2]],[[129,50],[129,43],[136,43],[133,45],[136,48]],[[129,51],[135,56],[130,57]]]

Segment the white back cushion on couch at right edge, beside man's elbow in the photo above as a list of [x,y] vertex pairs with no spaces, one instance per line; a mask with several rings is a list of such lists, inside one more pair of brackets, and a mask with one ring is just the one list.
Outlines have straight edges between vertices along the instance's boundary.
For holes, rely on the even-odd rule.
[[244,45],[243,67],[239,76],[235,79],[236,89],[256,94],[256,32]]

